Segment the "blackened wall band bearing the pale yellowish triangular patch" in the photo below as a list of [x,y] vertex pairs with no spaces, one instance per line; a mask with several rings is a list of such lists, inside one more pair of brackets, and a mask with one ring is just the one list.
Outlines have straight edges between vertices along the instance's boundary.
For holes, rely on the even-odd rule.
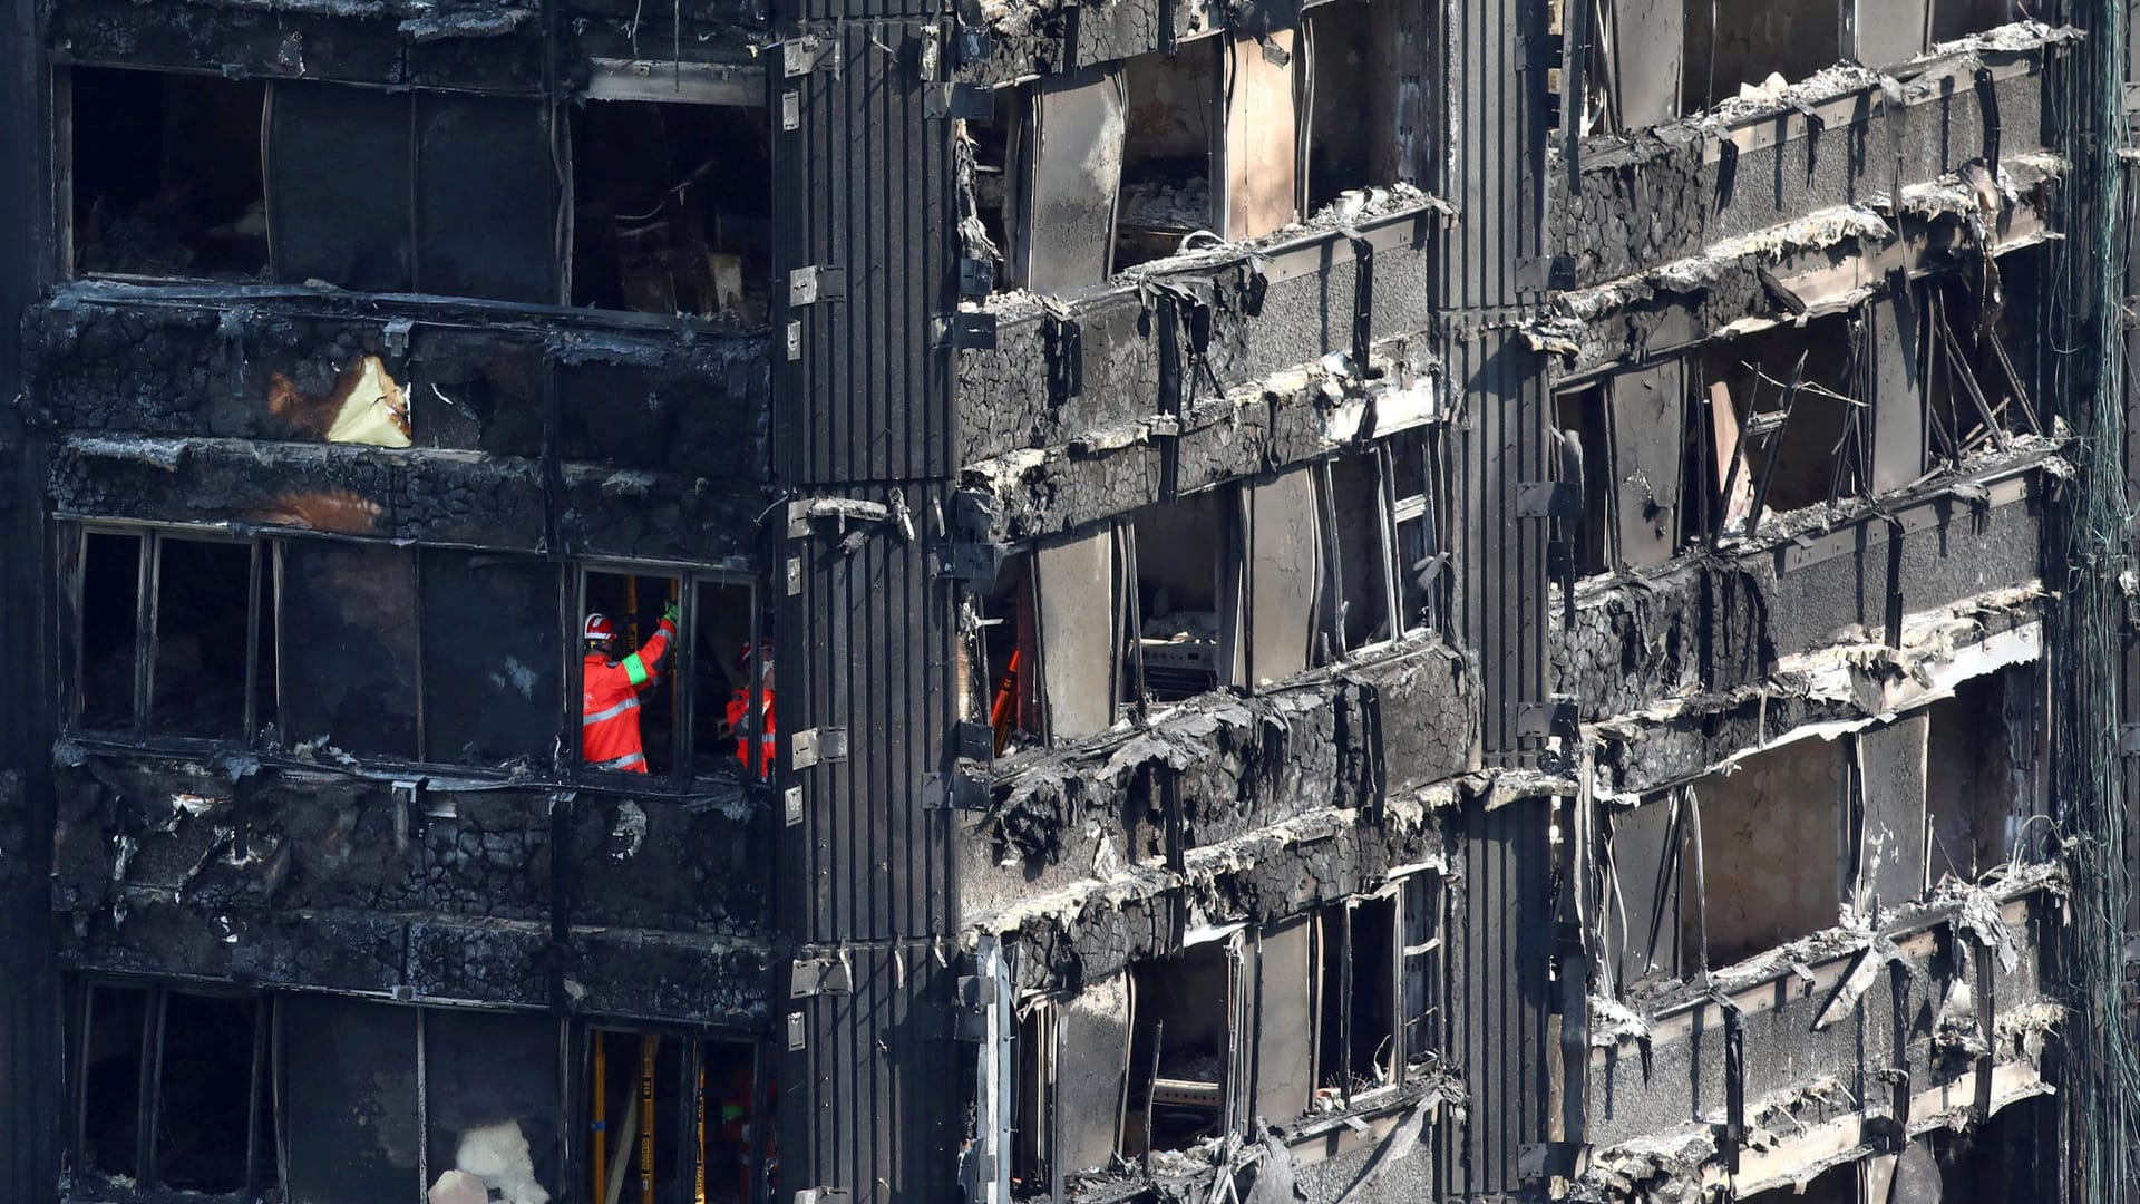
[[[51,428],[347,441],[385,396],[407,441],[766,480],[766,332],[317,289],[73,283],[24,321]],[[546,439],[546,428],[552,435]]]

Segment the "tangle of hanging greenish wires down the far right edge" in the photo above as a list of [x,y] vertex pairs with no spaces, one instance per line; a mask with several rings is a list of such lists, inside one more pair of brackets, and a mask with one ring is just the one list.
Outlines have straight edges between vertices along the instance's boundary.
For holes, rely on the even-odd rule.
[[2052,251],[2046,347],[2059,409],[2078,437],[2076,478],[2054,508],[2063,589],[2046,619],[2052,677],[2052,808],[2072,921],[2059,936],[2069,1018],[2061,1090],[2074,1198],[2125,1204],[2140,1191],[2140,1060],[2123,1013],[2125,913],[2131,896],[2119,752],[2119,578],[2125,540],[2125,364],[2119,298],[2125,289],[2125,214],[2119,148],[2125,141],[2123,0],[2076,0],[2084,45],[2054,64],[2061,105],[2054,146],[2078,165],[2069,240]]

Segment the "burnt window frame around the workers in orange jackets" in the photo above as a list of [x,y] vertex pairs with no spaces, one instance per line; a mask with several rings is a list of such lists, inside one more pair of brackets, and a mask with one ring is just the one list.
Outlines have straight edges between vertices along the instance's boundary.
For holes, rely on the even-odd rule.
[[[689,791],[696,791],[696,788],[704,788],[704,786],[730,780],[728,773],[700,773],[696,769],[696,765],[693,765],[696,756],[698,756],[698,733],[696,733],[696,726],[698,726],[698,711],[700,711],[700,707],[706,707],[706,705],[710,705],[710,707],[725,707],[728,705],[725,696],[723,698],[715,698],[715,701],[706,701],[706,698],[698,698],[698,690],[696,690],[696,673],[698,673],[698,653],[700,653],[700,649],[696,647],[693,636],[696,636],[696,630],[698,630],[700,587],[704,583],[719,583],[719,587],[723,587],[723,589],[725,587],[749,589],[749,593],[751,593],[751,598],[749,598],[749,611],[751,611],[751,638],[749,638],[749,647],[755,649],[755,647],[762,645],[762,641],[766,641],[768,636],[773,636],[773,632],[766,626],[766,613],[764,613],[768,593],[766,593],[764,583],[760,581],[760,576],[755,572],[730,570],[730,568],[687,566],[687,563],[672,563],[672,561],[625,561],[625,559],[599,559],[599,557],[597,559],[576,559],[576,561],[569,561],[569,570],[571,572],[569,572],[569,576],[567,576],[567,581],[563,585],[563,589],[567,591],[567,598],[571,600],[571,608],[563,615],[563,626],[565,626],[565,643],[563,643],[563,649],[565,649],[565,690],[563,690],[563,698],[565,698],[565,716],[563,716],[565,767],[561,769],[561,776],[569,778],[569,780],[586,782],[586,784],[606,784],[606,786],[638,784],[638,786],[655,786],[655,793],[689,793]],[[672,677],[676,681],[676,713],[672,718],[672,722],[676,724],[676,746],[674,746],[674,750],[670,754],[672,761],[674,761],[674,765],[670,765],[670,767],[666,767],[661,771],[655,771],[648,765],[646,773],[625,773],[625,771],[616,771],[616,769],[595,769],[595,767],[586,765],[584,761],[580,761],[580,748],[582,748],[580,746],[580,735],[582,735],[582,731],[580,731],[582,728],[582,724],[580,724],[580,696],[582,694],[580,692],[582,692],[582,668],[584,668],[584,662],[586,662],[586,641],[580,638],[584,634],[580,630],[580,626],[586,621],[586,613],[588,613],[586,611],[586,578],[588,578],[588,574],[640,576],[640,578],[655,576],[655,578],[670,578],[670,581],[676,583],[676,608],[681,611],[681,621],[676,623],[678,626],[676,641],[674,641],[674,647],[670,649],[670,653],[666,658],[666,666],[668,668],[663,671],[663,677]],[[631,651],[636,651],[636,649],[631,649]],[[719,656],[717,649],[715,649],[715,656]],[[779,647],[775,647],[775,658],[777,656],[779,656]],[[760,677],[751,677],[751,737],[753,739],[751,739],[751,763],[747,767],[749,773],[734,773],[734,780],[740,782],[745,788],[751,788],[755,784],[770,784],[773,780],[779,778],[781,765],[785,763],[783,756],[777,756],[775,765],[770,767],[770,771],[766,771],[766,767],[762,765],[762,752],[764,752],[764,748],[762,748],[762,739],[758,739],[758,731],[755,731],[758,728],[758,716],[764,713],[764,694],[760,692],[760,686],[762,686]],[[779,733],[775,733],[775,737]],[[725,756],[723,763],[734,763],[734,756]],[[751,773],[758,773],[758,778],[751,778]]]

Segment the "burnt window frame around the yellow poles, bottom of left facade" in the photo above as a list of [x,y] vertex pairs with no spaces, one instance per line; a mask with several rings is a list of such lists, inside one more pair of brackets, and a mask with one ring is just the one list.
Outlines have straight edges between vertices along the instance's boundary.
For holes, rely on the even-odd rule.
[[[597,1033],[603,1037],[603,1058],[606,1060],[614,1060],[618,1056],[616,1052],[608,1050],[610,1037],[659,1037],[661,1041],[670,1041],[670,1039],[685,1041],[685,1048],[681,1052],[683,1069],[685,1071],[691,1071],[691,1069],[704,1071],[704,1067],[706,1067],[704,1045],[708,1045],[708,1043],[736,1045],[740,1050],[749,1050],[749,1056],[751,1056],[751,1108],[753,1108],[751,1120],[753,1120],[755,1127],[749,1131],[749,1138],[747,1138],[749,1140],[751,1189],[749,1189],[749,1195],[745,1198],[743,1204],[773,1204],[773,1191],[770,1191],[770,1185],[768,1185],[768,1178],[766,1178],[766,1174],[770,1170],[770,1163],[766,1159],[766,1144],[768,1144],[766,1135],[773,1133],[773,1131],[777,1131],[777,1127],[779,1127],[779,1101],[773,1099],[773,1095],[768,1090],[768,1088],[775,1086],[770,1082],[770,1075],[773,1075],[773,1071],[779,1069],[779,1058],[775,1056],[775,1050],[766,1041],[762,1041],[760,1037],[755,1037],[751,1033],[738,1033],[738,1030],[721,1028],[721,1026],[715,1026],[715,1024],[678,1024],[678,1022],[663,1022],[663,1020],[638,1020],[638,1018],[612,1018],[612,1015],[576,1018],[576,1020],[571,1020],[571,1028],[565,1035],[565,1041],[567,1041],[567,1065],[563,1067],[563,1073],[565,1073],[565,1159],[563,1159],[563,1165],[567,1168],[565,1170],[567,1183],[559,1185],[556,1200],[580,1200],[582,1198],[576,1191],[578,1183],[574,1183],[574,1180],[582,1178],[582,1176],[591,1176],[593,1170],[595,1170],[595,1159],[591,1157],[588,1138],[593,1133],[608,1135],[612,1131],[618,1131],[618,1112],[614,1108],[610,1108],[610,1101],[603,1101],[606,1103],[606,1108],[603,1108],[603,1120],[601,1120],[603,1127],[601,1129],[595,1127],[597,1125],[597,1120],[595,1120],[595,1108],[593,1108],[595,1101],[593,1101],[593,1097],[586,1090],[588,1078],[593,1075],[593,1067],[595,1067],[595,1035]],[[638,1056],[638,1050],[633,1050],[629,1056]],[[717,1110],[710,1110],[710,1108],[704,1105],[704,1101],[708,1097],[715,1097],[715,1093],[719,1088],[708,1080],[700,1090],[693,1093],[691,1086],[689,1086],[691,1078],[696,1078],[696,1075],[691,1075],[691,1073],[678,1073],[676,1093],[670,1099],[661,1101],[661,1105],[663,1108],[678,1108],[687,1116],[687,1120],[691,1120],[691,1123],[700,1123],[702,1125],[708,1116],[715,1123],[719,1123]],[[627,1095],[623,1099],[625,1099],[627,1105],[638,1103],[638,1095]],[[687,1125],[681,1125],[681,1127],[687,1127]],[[708,1144],[710,1144],[710,1138],[708,1138]],[[655,1157],[659,1159],[661,1150],[655,1150]],[[678,1183],[689,1183],[693,1170],[704,1170],[704,1165],[693,1165],[693,1159],[689,1157],[689,1146],[678,1146],[672,1157],[676,1159],[674,1172],[678,1176]],[[610,1165],[614,1165],[614,1163],[610,1163]],[[638,1200],[638,1193],[631,1191],[631,1180],[629,1178],[631,1176],[627,1172],[625,1195],[631,1198],[631,1200]],[[655,1198],[661,1200],[659,1189],[657,1189]]]

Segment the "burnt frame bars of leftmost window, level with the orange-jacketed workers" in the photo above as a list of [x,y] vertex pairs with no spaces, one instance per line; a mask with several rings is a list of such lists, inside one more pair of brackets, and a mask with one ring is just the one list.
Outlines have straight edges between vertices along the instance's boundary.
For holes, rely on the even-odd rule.
[[[83,585],[88,572],[88,540],[90,536],[118,536],[139,540],[137,559],[137,593],[135,593],[135,651],[133,651],[133,720],[124,728],[86,726],[83,722],[83,666],[86,666],[86,641],[83,641]],[[261,585],[270,585],[270,606],[274,606],[274,632],[276,632],[276,698],[265,698],[265,703],[276,703],[282,694],[282,555],[280,540],[240,536],[223,527],[182,527],[182,525],[146,525],[146,523],[103,523],[103,521],[62,521],[58,523],[60,540],[60,600],[64,630],[60,632],[60,660],[62,660],[62,681],[64,690],[60,694],[60,731],[68,735],[86,737],[118,737],[131,741],[175,741],[184,746],[223,746],[242,743],[253,746],[261,731],[272,724],[261,722],[263,711],[263,690],[259,681],[259,660],[261,660]],[[250,576],[248,576],[248,598],[246,598],[246,703],[240,731],[233,735],[216,737],[195,737],[195,735],[169,735],[158,733],[154,722],[156,703],[156,651],[158,651],[158,591],[163,585],[163,544],[165,540],[186,540],[199,544],[231,544],[244,546],[250,555]]]

